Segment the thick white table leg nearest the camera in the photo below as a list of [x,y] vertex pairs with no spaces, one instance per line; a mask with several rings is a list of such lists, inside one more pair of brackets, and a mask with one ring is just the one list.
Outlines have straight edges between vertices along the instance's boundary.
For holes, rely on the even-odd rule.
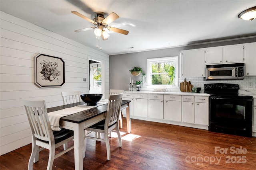
[[74,125],[74,158],[75,170],[83,170],[84,166],[84,126],[83,123]]

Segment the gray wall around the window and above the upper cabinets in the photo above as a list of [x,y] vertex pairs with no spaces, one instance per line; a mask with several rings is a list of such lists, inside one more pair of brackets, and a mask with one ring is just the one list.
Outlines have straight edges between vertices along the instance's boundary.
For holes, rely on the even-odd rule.
[[[159,50],[144,51],[144,52],[138,52],[138,53],[110,55],[109,56],[110,57],[109,59],[110,89],[128,90],[130,87],[130,77],[132,77],[133,80],[140,80],[140,76],[138,77],[132,76],[129,70],[132,69],[134,66],[140,66],[142,70],[146,73],[147,59],[178,56],[179,66],[180,66],[180,51],[182,50],[216,47],[216,46],[222,46],[222,45],[252,43],[252,42],[256,42],[255,36],[250,38],[244,38],[244,39],[236,39],[236,40],[229,39],[226,41],[222,40],[214,43],[200,43],[197,45],[195,44],[195,45],[188,45],[184,47],[174,47],[169,49],[159,49]],[[179,68],[178,75],[180,78],[180,68]],[[143,84],[142,88],[146,88],[146,83]]]

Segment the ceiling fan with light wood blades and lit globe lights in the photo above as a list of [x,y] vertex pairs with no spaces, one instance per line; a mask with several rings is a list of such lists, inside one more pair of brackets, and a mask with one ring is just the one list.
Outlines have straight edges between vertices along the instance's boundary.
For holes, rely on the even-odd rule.
[[82,31],[87,31],[87,30],[96,28],[94,30],[94,34],[96,35],[97,38],[101,36],[103,40],[107,40],[108,37],[110,36],[104,30],[105,28],[108,29],[109,31],[114,31],[114,32],[121,33],[124,35],[127,35],[129,33],[129,31],[126,31],[124,29],[108,26],[108,24],[110,24],[111,22],[113,22],[114,20],[119,18],[119,16],[114,12],[112,12],[108,16],[106,16],[106,14],[104,12],[96,12],[93,20],[91,20],[90,18],[87,18],[86,16],[80,14],[79,12],[76,12],[76,11],[71,11],[71,12],[95,25],[95,27],[78,29],[78,30],[75,30],[75,32],[82,32]]

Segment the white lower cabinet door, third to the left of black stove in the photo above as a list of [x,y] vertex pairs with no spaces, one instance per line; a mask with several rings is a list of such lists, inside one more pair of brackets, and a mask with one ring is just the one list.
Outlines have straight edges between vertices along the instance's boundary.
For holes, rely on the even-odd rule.
[[164,119],[171,121],[181,121],[180,101],[164,101]]

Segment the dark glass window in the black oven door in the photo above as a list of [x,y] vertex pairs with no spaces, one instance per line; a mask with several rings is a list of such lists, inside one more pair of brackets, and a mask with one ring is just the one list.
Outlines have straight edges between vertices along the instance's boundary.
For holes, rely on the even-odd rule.
[[216,104],[216,117],[245,119],[245,106],[239,104]]

